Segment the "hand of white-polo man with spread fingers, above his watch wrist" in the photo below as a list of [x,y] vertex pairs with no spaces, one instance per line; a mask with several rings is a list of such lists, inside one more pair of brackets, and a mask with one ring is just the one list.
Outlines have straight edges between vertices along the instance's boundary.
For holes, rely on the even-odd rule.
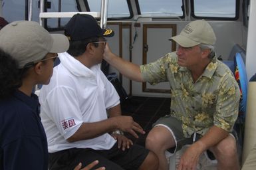
[[142,129],[142,127],[134,122],[131,116],[115,116],[113,118],[116,119],[115,123],[117,124],[118,129],[130,133],[134,137],[138,138],[136,132],[145,134],[145,131]]

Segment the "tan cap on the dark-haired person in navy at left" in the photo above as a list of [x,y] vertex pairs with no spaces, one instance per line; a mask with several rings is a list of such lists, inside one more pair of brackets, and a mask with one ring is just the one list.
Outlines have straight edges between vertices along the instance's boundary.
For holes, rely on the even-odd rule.
[[34,21],[14,21],[0,31],[0,48],[23,68],[28,62],[41,60],[48,52],[68,50],[69,41],[61,34],[50,34]]

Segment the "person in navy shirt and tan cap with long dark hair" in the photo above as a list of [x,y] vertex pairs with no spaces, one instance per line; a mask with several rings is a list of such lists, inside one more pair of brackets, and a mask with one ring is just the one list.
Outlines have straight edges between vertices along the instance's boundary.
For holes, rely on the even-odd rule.
[[68,39],[33,21],[6,25],[0,39],[0,169],[47,170],[47,137],[33,88],[49,84],[54,60],[68,49]]

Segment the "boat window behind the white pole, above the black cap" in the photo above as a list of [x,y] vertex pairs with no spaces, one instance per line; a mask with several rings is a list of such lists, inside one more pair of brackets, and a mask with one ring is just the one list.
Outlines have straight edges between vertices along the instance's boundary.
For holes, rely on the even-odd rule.
[[[101,0],[87,0],[87,11],[100,12]],[[130,19],[132,9],[128,0],[108,0],[108,19]]]

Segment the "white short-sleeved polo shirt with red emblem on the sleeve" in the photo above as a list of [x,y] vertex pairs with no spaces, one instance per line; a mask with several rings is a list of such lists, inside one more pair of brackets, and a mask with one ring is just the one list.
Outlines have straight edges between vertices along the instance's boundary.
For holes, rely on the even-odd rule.
[[41,119],[50,153],[68,148],[110,149],[116,140],[108,133],[69,143],[82,122],[107,119],[106,109],[120,103],[114,86],[98,66],[86,68],[67,52],[59,54],[51,82],[39,94]]

